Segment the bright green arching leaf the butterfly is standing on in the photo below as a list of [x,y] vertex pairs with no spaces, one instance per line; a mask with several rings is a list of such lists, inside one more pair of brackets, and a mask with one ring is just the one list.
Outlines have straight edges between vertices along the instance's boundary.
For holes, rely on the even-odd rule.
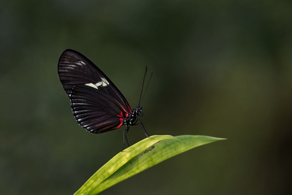
[[75,193],[94,195],[172,156],[222,140],[209,136],[154,135],[121,151],[103,165]]

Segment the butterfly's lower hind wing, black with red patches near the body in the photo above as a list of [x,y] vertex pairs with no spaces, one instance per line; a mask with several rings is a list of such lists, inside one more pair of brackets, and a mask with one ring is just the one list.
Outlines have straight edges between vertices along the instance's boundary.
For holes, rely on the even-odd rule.
[[128,115],[111,95],[88,86],[78,85],[71,92],[71,108],[79,125],[92,133],[120,128]]

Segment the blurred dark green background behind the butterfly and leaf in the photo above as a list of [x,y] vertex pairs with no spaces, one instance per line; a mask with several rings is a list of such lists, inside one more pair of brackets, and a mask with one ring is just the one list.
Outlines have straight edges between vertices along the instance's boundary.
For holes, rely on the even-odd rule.
[[[150,135],[228,138],[101,194],[291,193],[291,1],[2,1],[0,194],[73,194],[122,149],[75,121],[57,74],[74,49],[141,106]],[[133,144],[145,138],[131,127]]]

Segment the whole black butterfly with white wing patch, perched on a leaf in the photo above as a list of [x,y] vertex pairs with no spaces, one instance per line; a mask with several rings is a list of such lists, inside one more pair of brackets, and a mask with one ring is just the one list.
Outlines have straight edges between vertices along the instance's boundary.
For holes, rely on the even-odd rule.
[[[149,137],[140,120],[143,116],[140,107],[142,91],[139,106],[131,110],[126,98],[112,81],[93,62],[72,49],[61,54],[58,74],[71,100],[73,115],[81,127],[91,133],[104,133],[125,125],[127,129],[123,131],[124,148],[125,137],[131,125],[140,124],[145,135]],[[152,71],[150,78],[151,76]],[[127,137],[126,141],[129,145]]]

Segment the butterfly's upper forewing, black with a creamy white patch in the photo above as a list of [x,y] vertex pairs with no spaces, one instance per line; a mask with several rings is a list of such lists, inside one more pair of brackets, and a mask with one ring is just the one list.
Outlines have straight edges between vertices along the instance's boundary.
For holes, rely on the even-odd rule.
[[127,113],[132,112],[126,98],[112,81],[93,62],[78,51],[67,49],[61,54],[58,74],[69,98],[75,86],[87,85],[111,96],[123,106]]

